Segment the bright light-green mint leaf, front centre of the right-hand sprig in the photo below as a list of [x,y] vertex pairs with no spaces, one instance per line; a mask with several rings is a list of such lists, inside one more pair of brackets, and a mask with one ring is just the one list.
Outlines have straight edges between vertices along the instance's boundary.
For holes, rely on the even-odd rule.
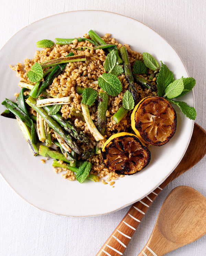
[[[159,75],[158,75],[159,76]],[[167,96],[168,99],[173,99],[180,95],[184,89],[184,83],[183,79],[180,78],[178,80],[175,80],[174,82],[170,83],[167,88],[165,89],[165,96]]]

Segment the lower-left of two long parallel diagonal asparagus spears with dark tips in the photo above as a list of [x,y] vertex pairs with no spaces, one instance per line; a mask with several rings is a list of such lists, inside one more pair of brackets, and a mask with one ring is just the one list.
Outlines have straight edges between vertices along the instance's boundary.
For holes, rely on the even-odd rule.
[[59,134],[59,136],[67,142],[67,144],[73,149],[76,153],[81,154],[81,149],[77,145],[76,142],[72,141],[71,136],[69,134],[66,134],[64,130],[61,128],[61,126],[48,115],[48,113],[42,108],[36,106],[36,100],[32,97],[29,97],[26,100],[26,103],[31,106],[39,115],[42,116],[42,118],[49,124],[49,126]]

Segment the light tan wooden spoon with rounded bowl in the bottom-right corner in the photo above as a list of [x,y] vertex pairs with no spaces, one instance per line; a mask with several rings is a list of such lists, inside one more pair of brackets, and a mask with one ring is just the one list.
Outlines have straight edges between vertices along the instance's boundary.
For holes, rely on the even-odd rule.
[[152,234],[138,256],[162,256],[206,234],[206,198],[192,187],[175,187],[164,200]]

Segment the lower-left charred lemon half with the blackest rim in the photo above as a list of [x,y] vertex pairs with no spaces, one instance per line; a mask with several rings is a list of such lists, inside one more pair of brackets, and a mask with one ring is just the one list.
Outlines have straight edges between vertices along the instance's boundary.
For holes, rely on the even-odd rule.
[[117,174],[131,175],[150,162],[150,151],[134,134],[121,132],[112,135],[103,145],[104,165]]

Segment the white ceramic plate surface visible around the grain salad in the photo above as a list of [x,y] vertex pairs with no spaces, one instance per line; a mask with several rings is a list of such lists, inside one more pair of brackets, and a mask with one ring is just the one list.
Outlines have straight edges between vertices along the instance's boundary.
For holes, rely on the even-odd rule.
[[[82,37],[90,29],[99,35],[111,33],[118,42],[131,49],[149,52],[162,60],[172,70],[175,79],[187,77],[180,56],[158,33],[141,22],[104,11],[75,11],[60,13],[23,28],[0,51],[0,100],[14,100],[19,92],[19,78],[8,64],[23,63],[33,58],[36,42],[42,39]],[[194,106],[193,93],[183,98]],[[85,181],[64,180],[55,174],[52,160],[42,164],[41,156],[33,157],[17,122],[0,117],[0,171],[10,186],[35,207],[61,216],[95,216],[110,213],[134,203],[154,190],[174,170],[182,159],[190,141],[194,122],[178,109],[177,129],[173,138],[164,146],[151,147],[150,164],[141,172],[119,178],[115,187]],[[2,112],[4,107],[0,107]]]

